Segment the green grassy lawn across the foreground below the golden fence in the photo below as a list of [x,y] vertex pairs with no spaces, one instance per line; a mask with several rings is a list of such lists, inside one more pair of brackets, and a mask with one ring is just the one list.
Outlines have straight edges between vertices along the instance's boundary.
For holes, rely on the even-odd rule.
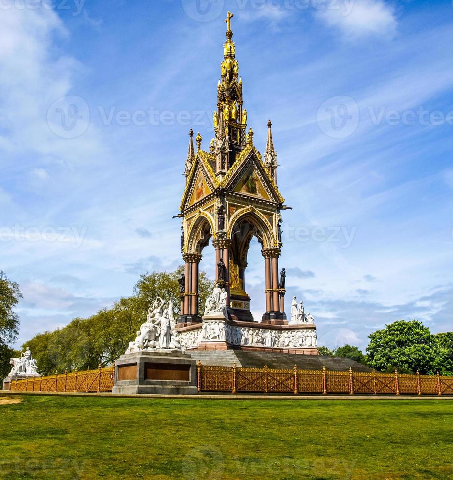
[[0,397],[3,478],[453,479],[453,402]]

